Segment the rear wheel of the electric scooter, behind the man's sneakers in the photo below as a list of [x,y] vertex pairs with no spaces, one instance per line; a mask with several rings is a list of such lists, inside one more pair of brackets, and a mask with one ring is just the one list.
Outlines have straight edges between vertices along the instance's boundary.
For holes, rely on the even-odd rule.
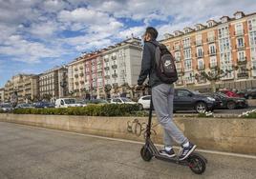
[[202,156],[196,153],[192,153],[188,157],[187,162],[188,167],[196,174],[202,174],[206,169],[205,160],[202,158]]

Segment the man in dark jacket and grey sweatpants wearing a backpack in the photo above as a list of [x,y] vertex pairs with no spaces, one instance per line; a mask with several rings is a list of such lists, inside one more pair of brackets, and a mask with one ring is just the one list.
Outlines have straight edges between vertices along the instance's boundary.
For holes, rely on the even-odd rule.
[[160,125],[163,128],[164,149],[160,155],[175,157],[172,141],[181,145],[179,160],[186,159],[195,149],[193,145],[177,128],[173,121],[174,85],[178,79],[174,59],[171,53],[156,40],[158,31],[148,27],[142,36],[144,41],[141,70],[137,89],[141,88],[149,75],[149,86],[152,88],[152,101]]

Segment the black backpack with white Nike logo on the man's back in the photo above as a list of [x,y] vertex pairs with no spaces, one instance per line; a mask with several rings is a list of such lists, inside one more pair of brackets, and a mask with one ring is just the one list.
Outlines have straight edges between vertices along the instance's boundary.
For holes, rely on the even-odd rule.
[[155,69],[160,81],[173,84],[178,80],[178,73],[175,66],[175,59],[166,46],[158,42],[151,42],[156,46]]

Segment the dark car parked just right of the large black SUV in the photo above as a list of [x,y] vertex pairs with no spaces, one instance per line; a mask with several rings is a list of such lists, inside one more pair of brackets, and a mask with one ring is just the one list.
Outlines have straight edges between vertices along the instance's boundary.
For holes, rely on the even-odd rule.
[[218,109],[237,109],[247,108],[248,104],[245,98],[240,97],[228,97],[222,92],[216,92],[211,94],[216,101],[221,101],[221,105],[218,105]]

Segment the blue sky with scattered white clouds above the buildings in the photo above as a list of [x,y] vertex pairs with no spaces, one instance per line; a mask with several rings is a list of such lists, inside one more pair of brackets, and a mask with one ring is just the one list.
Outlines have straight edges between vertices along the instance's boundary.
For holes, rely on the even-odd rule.
[[[193,3],[192,3],[193,2]],[[147,26],[166,32],[219,21],[255,0],[0,0],[0,87],[17,73],[40,73],[83,51],[115,44]]]

